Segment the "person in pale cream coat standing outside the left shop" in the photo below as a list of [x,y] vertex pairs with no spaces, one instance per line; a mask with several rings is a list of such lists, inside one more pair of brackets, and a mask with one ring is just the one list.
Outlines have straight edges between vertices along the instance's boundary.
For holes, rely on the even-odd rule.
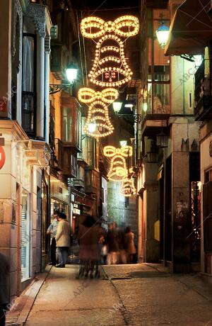
[[58,226],[56,240],[56,254],[58,259],[58,264],[56,267],[65,267],[70,247],[71,239],[71,225],[66,220],[66,214],[58,213]]

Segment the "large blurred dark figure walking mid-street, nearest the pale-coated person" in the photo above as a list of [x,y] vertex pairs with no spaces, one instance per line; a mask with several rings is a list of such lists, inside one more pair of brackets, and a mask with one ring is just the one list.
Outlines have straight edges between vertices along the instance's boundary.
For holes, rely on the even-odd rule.
[[100,238],[100,226],[91,215],[84,217],[83,223],[78,230],[79,258],[81,266],[79,276],[100,276],[98,262],[100,261],[100,248],[98,240]]

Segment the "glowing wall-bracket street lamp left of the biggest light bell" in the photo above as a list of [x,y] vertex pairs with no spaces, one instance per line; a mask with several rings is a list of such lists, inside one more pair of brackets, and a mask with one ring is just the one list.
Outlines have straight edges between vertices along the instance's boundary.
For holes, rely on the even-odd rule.
[[76,80],[78,69],[75,64],[70,63],[66,67],[66,79],[69,84],[49,84],[49,94],[55,94],[58,91],[69,91],[73,86],[73,82]]

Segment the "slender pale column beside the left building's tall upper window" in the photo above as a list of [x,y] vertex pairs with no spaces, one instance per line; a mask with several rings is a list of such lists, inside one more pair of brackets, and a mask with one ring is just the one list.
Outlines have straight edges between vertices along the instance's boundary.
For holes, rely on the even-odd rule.
[[44,138],[45,125],[45,38],[37,33],[36,137]]

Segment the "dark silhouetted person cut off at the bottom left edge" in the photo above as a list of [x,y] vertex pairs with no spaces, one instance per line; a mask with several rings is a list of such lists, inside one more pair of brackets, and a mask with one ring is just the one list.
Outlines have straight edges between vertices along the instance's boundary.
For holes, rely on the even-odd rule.
[[0,252],[0,326],[5,326],[6,310],[9,303],[9,263],[4,254]]

